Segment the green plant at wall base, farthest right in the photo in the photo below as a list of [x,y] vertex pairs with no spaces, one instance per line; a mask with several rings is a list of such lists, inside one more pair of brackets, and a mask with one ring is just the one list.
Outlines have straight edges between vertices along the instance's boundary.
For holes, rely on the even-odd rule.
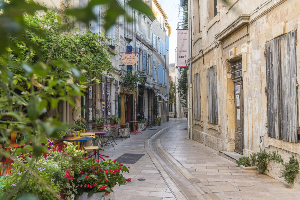
[[296,174],[299,173],[299,163],[298,160],[294,158],[294,155],[289,157],[289,163],[284,163],[284,170],[282,170],[281,173],[280,178],[283,177],[286,183],[294,182]]

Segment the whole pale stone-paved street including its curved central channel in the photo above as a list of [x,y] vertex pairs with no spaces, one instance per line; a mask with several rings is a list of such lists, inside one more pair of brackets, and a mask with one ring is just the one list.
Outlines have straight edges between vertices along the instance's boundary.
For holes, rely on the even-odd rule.
[[[158,133],[165,127],[168,128]],[[300,191],[255,170],[244,171],[219,156],[218,151],[188,140],[185,128],[186,119],[170,118],[170,122],[153,127],[155,130],[147,129],[123,142],[117,139],[115,150],[105,149],[104,154],[112,160],[124,153],[145,154],[134,164],[124,163],[131,167],[130,173],[124,176],[132,182],[115,187],[116,200],[300,199]],[[147,145],[155,133],[159,136],[154,138],[157,149],[151,143]],[[165,157],[156,156],[157,152]],[[138,181],[140,178],[146,180]]]

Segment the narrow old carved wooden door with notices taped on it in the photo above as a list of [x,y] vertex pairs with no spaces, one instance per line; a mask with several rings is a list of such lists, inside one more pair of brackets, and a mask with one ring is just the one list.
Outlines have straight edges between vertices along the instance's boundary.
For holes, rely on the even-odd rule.
[[244,109],[243,109],[243,79],[242,79],[242,64],[238,60],[231,67],[234,75],[234,100],[235,100],[235,152],[242,154],[244,148]]

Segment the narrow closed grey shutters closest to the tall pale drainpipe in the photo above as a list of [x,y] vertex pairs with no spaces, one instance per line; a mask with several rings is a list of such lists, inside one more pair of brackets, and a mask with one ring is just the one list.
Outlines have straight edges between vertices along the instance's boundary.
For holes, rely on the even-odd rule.
[[200,73],[194,74],[194,119],[201,121]]

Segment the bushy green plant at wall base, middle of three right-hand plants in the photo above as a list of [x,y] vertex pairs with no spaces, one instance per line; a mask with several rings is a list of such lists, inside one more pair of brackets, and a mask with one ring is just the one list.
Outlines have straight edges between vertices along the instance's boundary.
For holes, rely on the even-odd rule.
[[269,161],[273,161],[276,163],[282,163],[283,160],[281,158],[281,155],[278,154],[278,151],[271,151],[267,153],[259,146],[260,151],[254,152],[252,155],[250,155],[250,159],[252,162],[252,166],[256,166],[256,170],[259,172],[264,172],[267,169],[267,164]]

